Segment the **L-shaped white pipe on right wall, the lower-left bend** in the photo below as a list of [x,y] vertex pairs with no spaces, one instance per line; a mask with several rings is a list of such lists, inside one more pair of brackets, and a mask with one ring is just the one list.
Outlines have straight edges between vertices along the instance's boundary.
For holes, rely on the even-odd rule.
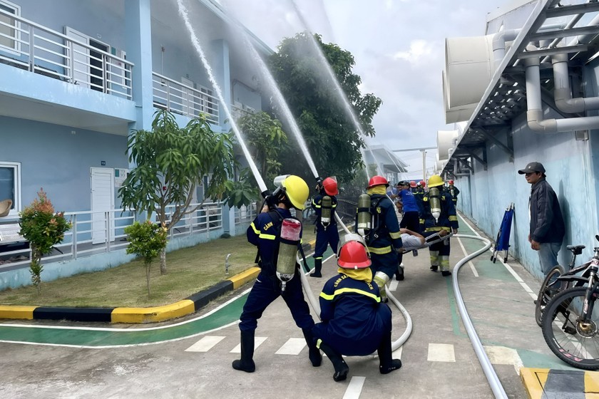
[[[534,47],[529,49],[532,50]],[[528,107],[526,120],[528,121],[528,128],[539,133],[562,133],[599,128],[599,116],[543,120],[539,59],[526,58],[524,65],[526,66],[526,105]]]

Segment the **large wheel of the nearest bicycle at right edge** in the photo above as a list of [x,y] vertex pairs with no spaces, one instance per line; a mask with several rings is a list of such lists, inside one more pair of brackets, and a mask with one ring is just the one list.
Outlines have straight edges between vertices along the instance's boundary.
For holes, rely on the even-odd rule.
[[[561,291],[543,311],[543,337],[551,351],[562,361],[584,370],[599,369],[599,306],[580,320],[586,287]],[[591,296],[593,305],[598,293]]]

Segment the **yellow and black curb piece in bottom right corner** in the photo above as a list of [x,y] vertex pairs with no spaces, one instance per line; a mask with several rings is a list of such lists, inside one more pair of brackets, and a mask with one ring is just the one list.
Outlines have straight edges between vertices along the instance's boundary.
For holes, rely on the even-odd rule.
[[529,399],[599,397],[598,371],[523,367],[520,378]]

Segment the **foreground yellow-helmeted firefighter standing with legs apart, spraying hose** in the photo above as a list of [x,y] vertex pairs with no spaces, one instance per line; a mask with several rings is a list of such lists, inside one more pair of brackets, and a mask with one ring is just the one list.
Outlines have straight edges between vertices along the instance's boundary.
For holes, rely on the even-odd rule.
[[[304,299],[299,279],[297,250],[301,249],[301,224],[292,218],[290,209],[304,209],[309,189],[301,177],[285,175],[275,179],[277,190],[264,193],[268,210],[258,214],[247,228],[247,241],[258,248],[260,274],[247,296],[240,316],[241,359],[233,361],[235,370],[255,371],[254,333],[257,320],[268,305],[282,296],[295,324],[302,328],[309,347],[312,366],[320,366],[322,356],[312,338],[314,319]],[[283,231],[282,231],[283,230]]]

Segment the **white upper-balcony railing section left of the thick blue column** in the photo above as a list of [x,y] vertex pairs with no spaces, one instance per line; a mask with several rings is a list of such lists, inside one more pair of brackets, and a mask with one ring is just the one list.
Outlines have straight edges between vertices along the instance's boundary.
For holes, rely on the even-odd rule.
[[0,16],[9,21],[0,19],[0,63],[132,98],[133,63],[2,9]]

